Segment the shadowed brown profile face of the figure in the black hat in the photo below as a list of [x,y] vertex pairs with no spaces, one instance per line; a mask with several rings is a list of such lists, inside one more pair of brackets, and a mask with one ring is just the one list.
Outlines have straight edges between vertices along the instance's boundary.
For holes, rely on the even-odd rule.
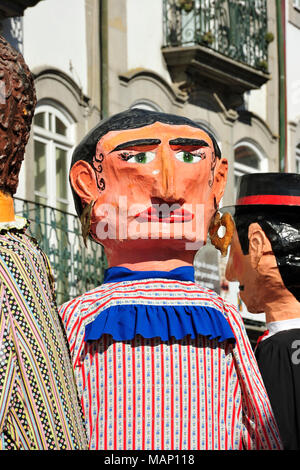
[[264,311],[260,295],[264,290],[261,277],[251,264],[250,255],[243,254],[236,230],[230,245],[225,277],[228,281],[239,282],[240,296],[249,312],[262,313]]

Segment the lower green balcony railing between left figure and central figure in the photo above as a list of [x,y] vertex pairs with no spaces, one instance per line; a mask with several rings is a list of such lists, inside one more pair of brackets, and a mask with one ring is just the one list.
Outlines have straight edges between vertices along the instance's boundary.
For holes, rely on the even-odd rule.
[[29,235],[47,254],[58,305],[101,284],[106,258],[101,245],[85,248],[78,217],[36,202],[14,198],[16,215],[30,221]]

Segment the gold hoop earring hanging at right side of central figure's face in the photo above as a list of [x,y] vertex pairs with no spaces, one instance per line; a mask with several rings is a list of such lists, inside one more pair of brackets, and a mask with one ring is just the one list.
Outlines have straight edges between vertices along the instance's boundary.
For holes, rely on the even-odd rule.
[[[226,232],[223,237],[218,235],[220,227],[225,227]],[[216,212],[208,229],[209,237],[212,245],[221,252],[222,256],[227,255],[228,247],[231,243],[234,232],[234,221],[229,212],[225,212],[222,217],[219,212]]]

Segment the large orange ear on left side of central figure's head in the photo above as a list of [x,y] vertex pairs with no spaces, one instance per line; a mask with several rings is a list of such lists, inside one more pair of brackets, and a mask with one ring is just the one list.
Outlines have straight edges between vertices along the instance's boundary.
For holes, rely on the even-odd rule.
[[76,162],[70,170],[70,181],[72,188],[85,204],[98,199],[96,176],[89,163],[84,160]]

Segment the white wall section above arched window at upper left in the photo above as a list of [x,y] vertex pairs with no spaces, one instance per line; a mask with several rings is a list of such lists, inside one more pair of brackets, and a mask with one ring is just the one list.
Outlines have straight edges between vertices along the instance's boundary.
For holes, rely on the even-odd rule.
[[44,0],[27,8],[24,58],[31,70],[62,70],[87,94],[85,0]]

